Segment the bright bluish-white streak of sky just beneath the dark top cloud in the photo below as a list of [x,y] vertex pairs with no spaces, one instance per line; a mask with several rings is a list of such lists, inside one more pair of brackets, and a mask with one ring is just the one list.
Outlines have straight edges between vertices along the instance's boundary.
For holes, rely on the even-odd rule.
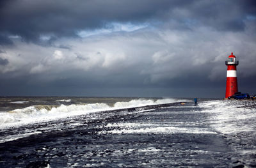
[[131,32],[131,31],[136,31],[138,29],[143,29],[147,26],[148,24],[131,24],[131,23],[120,24],[115,22],[107,25],[106,28],[103,28],[103,29],[95,29],[93,31],[88,31],[88,30],[79,31],[77,35],[81,37],[86,37],[86,36],[93,36],[98,34],[108,34],[108,33],[113,33],[118,31]]

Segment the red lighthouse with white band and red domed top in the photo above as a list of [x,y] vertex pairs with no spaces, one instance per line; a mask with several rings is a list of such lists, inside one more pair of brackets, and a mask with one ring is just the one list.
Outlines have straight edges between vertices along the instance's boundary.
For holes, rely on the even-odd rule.
[[225,61],[225,63],[228,66],[225,98],[228,98],[237,92],[236,66],[238,65],[238,60],[236,56],[233,55],[233,52],[230,56],[228,56],[228,59]]

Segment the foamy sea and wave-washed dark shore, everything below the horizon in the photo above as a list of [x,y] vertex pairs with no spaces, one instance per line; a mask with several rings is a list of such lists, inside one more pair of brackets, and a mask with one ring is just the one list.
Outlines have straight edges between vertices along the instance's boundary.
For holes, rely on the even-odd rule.
[[0,97],[0,167],[256,167],[256,102]]

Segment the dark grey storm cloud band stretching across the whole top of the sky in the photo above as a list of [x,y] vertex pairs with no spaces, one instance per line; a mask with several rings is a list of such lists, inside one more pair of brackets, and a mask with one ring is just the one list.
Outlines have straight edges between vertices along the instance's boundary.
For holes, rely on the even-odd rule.
[[[77,36],[77,31],[108,26],[109,22],[177,22],[176,28],[205,24],[220,30],[242,31],[247,15],[255,16],[255,1],[4,1],[0,33],[36,42]],[[232,16],[232,17],[231,17]],[[108,28],[108,27],[107,27]],[[0,36],[1,43],[11,43]]]

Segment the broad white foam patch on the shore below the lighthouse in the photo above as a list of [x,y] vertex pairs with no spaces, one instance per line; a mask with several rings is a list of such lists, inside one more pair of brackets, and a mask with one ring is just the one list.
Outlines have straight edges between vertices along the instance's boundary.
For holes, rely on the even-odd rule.
[[204,107],[202,112],[211,116],[206,122],[218,132],[255,132],[256,111],[254,108],[245,108],[246,102],[218,100],[203,102],[201,105]]

